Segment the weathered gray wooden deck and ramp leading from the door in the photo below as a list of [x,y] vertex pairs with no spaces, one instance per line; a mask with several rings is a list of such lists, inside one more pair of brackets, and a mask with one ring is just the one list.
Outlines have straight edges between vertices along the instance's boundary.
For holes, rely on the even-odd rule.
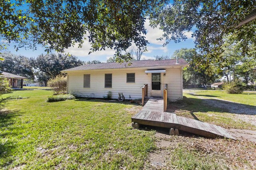
[[[163,111],[163,99],[150,98],[146,105],[132,117],[132,125],[136,123],[157,127],[178,129],[205,137],[220,137],[234,139],[224,128],[195,119],[177,116],[175,113]],[[162,107],[161,107],[162,106]],[[134,127],[136,127],[134,126]]]

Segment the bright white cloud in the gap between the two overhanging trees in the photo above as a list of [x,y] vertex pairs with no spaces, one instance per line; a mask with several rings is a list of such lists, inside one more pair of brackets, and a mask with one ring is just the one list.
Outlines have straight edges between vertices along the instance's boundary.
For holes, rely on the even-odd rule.
[[149,43],[157,44],[157,45],[163,45],[165,43],[165,40],[162,40],[162,41],[156,40],[156,39],[162,37],[164,32],[162,30],[160,30],[159,27],[156,27],[154,29],[152,27],[150,27],[148,19],[146,19],[146,21],[145,21],[145,28],[147,29],[147,34],[145,37]]

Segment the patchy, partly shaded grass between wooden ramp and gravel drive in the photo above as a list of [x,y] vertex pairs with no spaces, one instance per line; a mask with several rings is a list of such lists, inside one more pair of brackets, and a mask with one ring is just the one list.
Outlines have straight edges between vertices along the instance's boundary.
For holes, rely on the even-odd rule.
[[[210,94],[202,94],[201,92],[201,95]],[[235,128],[256,130],[255,125],[252,125],[247,121],[238,119],[236,114],[228,113],[227,110],[206,105],[202,103],[202,99],[199,99],[194,94],[189,94],[189,92],[184,93],[184,100],[171,103],[169,108],[170,111],[175,111],[176,115],[212,123],[214,125],[222,126],[228,129]],[[248,116],[256,117],[255,115]]]

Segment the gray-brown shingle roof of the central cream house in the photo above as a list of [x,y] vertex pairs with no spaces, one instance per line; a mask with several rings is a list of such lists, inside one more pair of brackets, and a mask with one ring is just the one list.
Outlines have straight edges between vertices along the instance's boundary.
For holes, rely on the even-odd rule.
[[[128,63],[132,63],[128,66]],[[85,64],[82,66],[69,68],[65,71],[74,70],[96,70],[96,69],[109,69],[109,68],[135,68],[135,67],[153,67],[153,66],[186,66],[188,63],[184,59],[179,59],[176,63],[176,59],[172,60],[141,60],[141,61],[130,61],[120,63],[100,63],[100,64]]]

